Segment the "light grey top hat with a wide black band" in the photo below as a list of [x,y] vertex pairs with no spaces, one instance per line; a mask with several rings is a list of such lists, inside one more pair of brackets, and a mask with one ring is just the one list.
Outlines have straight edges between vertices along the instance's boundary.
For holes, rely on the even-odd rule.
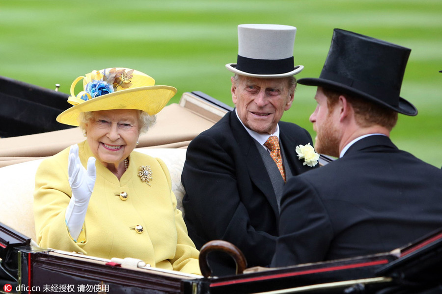
[[296,27],[290,25],[238,25],[237,63],[225,67],[237,74],[278,78],[300,73],[294,66],[293,45]]

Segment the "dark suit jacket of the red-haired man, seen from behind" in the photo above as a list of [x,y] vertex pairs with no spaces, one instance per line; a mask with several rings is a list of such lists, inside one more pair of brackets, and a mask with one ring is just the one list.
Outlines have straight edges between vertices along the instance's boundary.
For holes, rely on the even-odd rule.
[[442,226],[442,171],[386,136],[290,179],[272,265],[387,252]]

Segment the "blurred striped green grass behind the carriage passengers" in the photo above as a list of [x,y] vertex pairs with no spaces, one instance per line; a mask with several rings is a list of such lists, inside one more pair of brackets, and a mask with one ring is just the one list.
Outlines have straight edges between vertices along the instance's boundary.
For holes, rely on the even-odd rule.
[[[401,97],[419,110],[400,115],[391,137],[399,148],[442,166],[441,0],[0,0],[0,75],[69,93],[80,75],[135,68],[157,84],[202,91],[233,105],[231,73],[237,25],[294,25],[300,77],[317,77],[333,28],[409,47]],[[285,121],[307,128],[314,87],[299,86]]]

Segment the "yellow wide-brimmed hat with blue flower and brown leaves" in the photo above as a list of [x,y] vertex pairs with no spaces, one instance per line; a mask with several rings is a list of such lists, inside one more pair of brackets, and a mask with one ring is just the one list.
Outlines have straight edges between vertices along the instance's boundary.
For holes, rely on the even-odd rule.
[[[83,79],[83,91],[75,95],[77,83]],[[139,109],[157,114],[176,94],[171,86],[155,86],[155,80],[145,73],[127,68],[92,71],[77,77],[71,85],[68,102],[72,106],[60,113],[57,122],[78,126],[81,112],[111,109]]]

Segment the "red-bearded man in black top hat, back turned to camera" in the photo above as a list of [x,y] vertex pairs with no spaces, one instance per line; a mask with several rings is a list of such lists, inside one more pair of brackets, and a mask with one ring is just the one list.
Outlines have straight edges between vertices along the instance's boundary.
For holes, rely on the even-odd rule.
[[399,150],[389,134],[410,49],[335,29],[310,116],[316,150],[340,157],[290,179],[273,266],[388,252],[442,226],[442,171]]

